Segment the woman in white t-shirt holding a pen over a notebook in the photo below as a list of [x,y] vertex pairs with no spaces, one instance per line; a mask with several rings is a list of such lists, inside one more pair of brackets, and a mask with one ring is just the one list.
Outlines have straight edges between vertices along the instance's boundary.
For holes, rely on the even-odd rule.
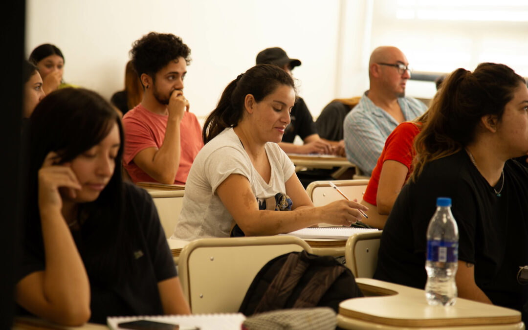
[[[280,142],[295,103],[286,71],[259,64],[225,88],[203,128],[173,236],[274,235],[319,222],[350,225],[361,219],[356,202],[314,208]],[[291,212],[277,212],[277,211]]]

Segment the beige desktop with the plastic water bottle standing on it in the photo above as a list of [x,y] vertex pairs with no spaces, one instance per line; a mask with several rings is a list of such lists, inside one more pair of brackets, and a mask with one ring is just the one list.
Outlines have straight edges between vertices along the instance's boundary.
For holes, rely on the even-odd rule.
[[339,305],[337,325],[344,329],[524,329],[517,310],[458,298],[450,307],[429,306],[420,289],[356,278],[364,298]]

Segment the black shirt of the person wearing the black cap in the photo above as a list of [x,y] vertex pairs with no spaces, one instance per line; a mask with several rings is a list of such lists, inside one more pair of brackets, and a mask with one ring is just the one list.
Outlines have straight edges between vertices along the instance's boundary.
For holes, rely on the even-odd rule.
[[294,107],[291,108],[290,124],[286,127],[284,135],[282,135],[282,142],[292,143],[296,135],[304,140],[312,134],[317,134],[314,119],[303,98],[298,97]]

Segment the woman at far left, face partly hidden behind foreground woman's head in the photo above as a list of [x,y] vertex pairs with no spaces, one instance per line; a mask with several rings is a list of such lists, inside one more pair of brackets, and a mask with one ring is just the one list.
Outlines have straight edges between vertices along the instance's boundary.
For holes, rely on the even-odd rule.
[[27,119],[45,94],[42,89],[42,79],[40,78],[39,70],[33,63],[25,59],[22,65],[22,83],[24,84],[22,117]]

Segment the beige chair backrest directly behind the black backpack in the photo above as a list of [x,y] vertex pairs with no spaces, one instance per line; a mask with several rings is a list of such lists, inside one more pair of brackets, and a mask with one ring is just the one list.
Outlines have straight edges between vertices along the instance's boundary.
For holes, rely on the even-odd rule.
[[180,280],[191,311],[236,313],[258,271],[281,254],[307,250],[293,236],[199,239],[180,253]]

